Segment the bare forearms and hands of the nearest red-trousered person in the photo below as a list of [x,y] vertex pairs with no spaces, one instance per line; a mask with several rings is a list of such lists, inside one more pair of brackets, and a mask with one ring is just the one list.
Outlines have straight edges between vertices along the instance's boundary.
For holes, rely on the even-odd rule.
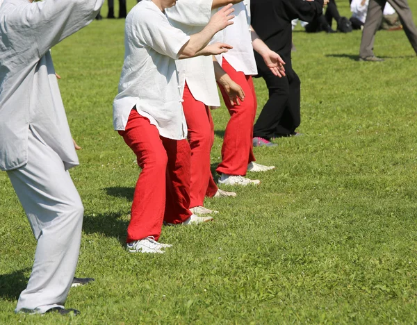
[[227,49],[231,49],[227,44],[215,43],[208,45],[208,42],[215,33],[233,24],[231,22],[231,19],[234,18],[234,15],[231,15],[232,12],[234,12],[234,8],[231,8],[231,4],[216,12],[201,32],[190,35],[190,40],[179,51],[179,58],[220,54],[226,52]]

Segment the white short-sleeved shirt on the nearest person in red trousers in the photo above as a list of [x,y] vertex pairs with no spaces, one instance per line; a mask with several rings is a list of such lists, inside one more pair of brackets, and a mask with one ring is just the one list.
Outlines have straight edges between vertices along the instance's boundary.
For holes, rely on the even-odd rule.
[[133,108],[165,138],[182,140],[187,124],[175,60],[190,37],[168,22],[151,0],[143,0],[126,17],[124,64],[119,94],[113,102],[113,125],[124,130]]

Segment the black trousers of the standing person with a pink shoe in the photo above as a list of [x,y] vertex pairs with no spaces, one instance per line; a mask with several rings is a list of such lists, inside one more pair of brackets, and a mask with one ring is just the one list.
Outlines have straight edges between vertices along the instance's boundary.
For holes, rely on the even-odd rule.
[[256,56],[259,76],[265,80],[269,99],[254,125],[254,137],[270,140],[276,136],[288,136],[295,133],[295,129],[300,126],[301,83],[291,67],[291,62],[287,61],[286,76],[279,78],[270,72],[259,54]]

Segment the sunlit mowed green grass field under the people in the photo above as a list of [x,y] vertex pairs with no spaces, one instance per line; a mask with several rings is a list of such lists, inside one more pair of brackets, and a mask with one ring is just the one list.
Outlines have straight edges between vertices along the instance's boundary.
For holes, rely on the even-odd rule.
[[[349,16],[347,0],[338,6]],[[124,20],[95,21],[52,50],[83,147],[71,169],[85,206],[76,276],[96,281],[70,291],[79,317],[13,313],[36,242],[3,172],[0,324],[416,323],[417,58],[404,32],[379,32],[375,53],[386,61],[359,63],[360,31],[297,27],[304,136],[256,148],[277,169],[249,174],[261,185],[236,188],[236,199],[206,200],[220,211],[215,222],[164,227],[173,247],[154,256],[124,250],[140,170],[112,126],[123,29]],[[255,85],[260,112],[268,92]],[[214,168],[229,115],[222,106],[213,118]]]

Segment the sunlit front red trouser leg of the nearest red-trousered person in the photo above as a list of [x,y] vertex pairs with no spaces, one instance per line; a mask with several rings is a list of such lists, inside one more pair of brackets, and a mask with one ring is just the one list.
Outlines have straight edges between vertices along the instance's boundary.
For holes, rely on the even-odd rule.
[[127,242],[161,235],[165,211],[165,171],[167,154],[156,126],[131,110],[124,131],[119,131],[124,142],[138,157],[142,168],[131,208],[131,221],[127,227]]

